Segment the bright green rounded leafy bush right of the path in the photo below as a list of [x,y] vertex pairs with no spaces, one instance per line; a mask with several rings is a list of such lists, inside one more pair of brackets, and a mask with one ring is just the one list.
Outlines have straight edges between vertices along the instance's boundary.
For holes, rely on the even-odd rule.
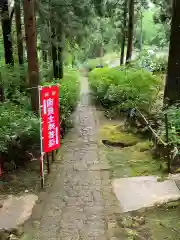
[[150,111],[162,86],[160,78],[138,69],[95,69],[89,80],[96,101],[116,113],[133,107]]

